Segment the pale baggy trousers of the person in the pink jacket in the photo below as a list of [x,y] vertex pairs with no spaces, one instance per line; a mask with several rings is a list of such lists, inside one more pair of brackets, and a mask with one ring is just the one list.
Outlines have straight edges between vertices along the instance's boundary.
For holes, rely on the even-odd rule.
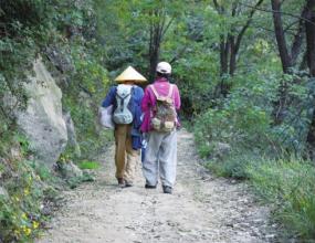
[[174,187],[177,165],[177,133],[150,131],[147,136],[147,148],[143,172],[146,183],[156,186],[158,177],[162,186]]

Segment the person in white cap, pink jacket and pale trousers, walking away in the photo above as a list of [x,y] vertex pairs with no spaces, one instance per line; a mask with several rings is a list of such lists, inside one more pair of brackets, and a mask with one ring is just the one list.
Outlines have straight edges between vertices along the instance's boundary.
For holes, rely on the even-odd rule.
[[177,165],[177,127],[180,126],[177,112],[180,108],[178,87],[168,78],[171,66],[167,62],[157,65],[157,78],[147,86],[141,102],[144,120],[141,131],[146,133],[147,148],[143,165],[147,189],[155,189],[160,177],[165,193],[172,193]]

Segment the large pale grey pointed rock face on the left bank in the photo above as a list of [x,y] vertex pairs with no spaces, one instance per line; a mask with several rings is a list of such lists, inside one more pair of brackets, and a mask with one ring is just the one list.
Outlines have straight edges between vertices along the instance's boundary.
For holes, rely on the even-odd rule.
[[62,92],[41,60],[33,65],[34,76],[25,85],[29,95],[27,110],[18,114],[18,124],[28,136],[40,161],[52,165],[67,142],[62,117]]

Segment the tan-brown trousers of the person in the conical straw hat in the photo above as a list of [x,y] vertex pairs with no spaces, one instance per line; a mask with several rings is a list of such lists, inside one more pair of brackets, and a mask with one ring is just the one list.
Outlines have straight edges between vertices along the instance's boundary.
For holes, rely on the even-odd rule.
[[128,182],[133,182],[137,165],[139,161],[139,150],[133,149],[132,125],[116,125],[115,126],[115,163],[116,178],[123,178]]

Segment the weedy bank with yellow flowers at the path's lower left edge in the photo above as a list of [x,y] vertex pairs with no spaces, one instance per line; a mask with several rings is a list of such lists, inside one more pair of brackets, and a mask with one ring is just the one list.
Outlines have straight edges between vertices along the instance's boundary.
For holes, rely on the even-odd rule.
[[57,205],[61,178],[33,161],[24,146],[0,163],[0,242],[30,242]]

